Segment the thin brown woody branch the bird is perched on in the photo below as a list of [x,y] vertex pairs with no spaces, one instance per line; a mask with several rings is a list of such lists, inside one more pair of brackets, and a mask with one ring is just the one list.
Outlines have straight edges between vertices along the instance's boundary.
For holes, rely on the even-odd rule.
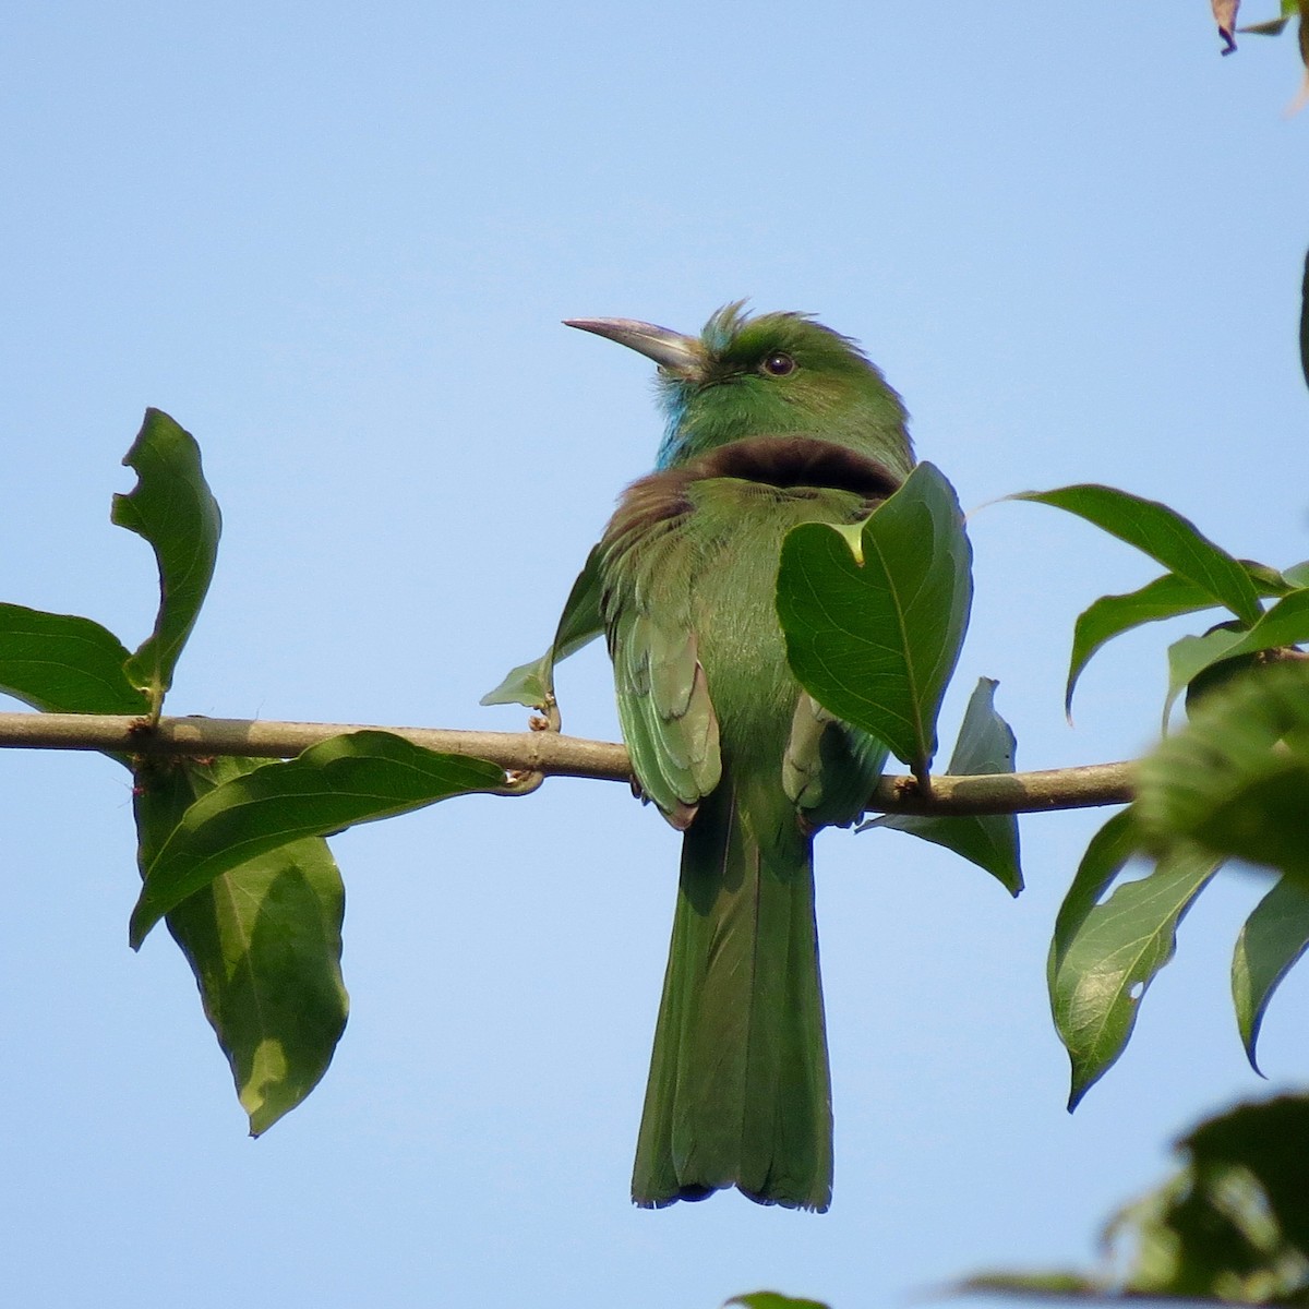
[[[0,749],[103,750],[132,755],[250,755],[289,759],[344,732],[384,730],[444,754],[490,759],[513,772],[630,781],[627,749],[556,732],[459,732],[444,728],[365,728],[350,723],[267,723],[250,719],[143,719],[99,713],[0,713]],[[1045,772],[932,778],[924,796],[912,778],[885,776],[869,809],[910,814],[1039,813],[1126,804],[1132,763],[1096,763]]]

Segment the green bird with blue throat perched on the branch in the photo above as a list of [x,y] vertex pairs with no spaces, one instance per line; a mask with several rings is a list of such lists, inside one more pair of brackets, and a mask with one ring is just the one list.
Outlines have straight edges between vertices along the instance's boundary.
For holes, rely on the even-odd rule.
[[914,466],[907,415],[856,343],[725,305],[699,335],[567,319],[653,360],[654,471],[597,547],[600,615],[641,797],[682,834],[632,1200],[737,1187],[823,1212],[833,1115],[813,838],[863,812],[886,758],[787,662],[781,543],[856,524]]

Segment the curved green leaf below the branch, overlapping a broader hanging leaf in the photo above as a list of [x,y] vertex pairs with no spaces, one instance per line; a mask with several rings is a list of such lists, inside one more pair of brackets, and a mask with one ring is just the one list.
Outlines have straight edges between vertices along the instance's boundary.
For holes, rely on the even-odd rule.
[[131,944],[140,946],[164,914],[220,873],[292,840],[503,784],[497,764],[437,754],[387,732],[351,732],[266,763],[187,809],[147,867]]

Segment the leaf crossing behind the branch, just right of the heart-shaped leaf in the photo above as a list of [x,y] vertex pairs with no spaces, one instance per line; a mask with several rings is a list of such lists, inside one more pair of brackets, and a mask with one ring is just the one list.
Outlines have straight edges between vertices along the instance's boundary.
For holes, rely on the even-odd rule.
[[[950,755],[948,776],[1013,772],[1017,741],[1013,729],[995,709],[995,689],[990,677],[978,678],[959,726],[959,738]],[[923,840],[945,846],[954,853],[984,868],[1012,895],[1022,890],[1018,861],[1018,819],[1014,814],[970,814],[961,818],[932,818],[922,814],[882,814],[865,827],[893,827]]]

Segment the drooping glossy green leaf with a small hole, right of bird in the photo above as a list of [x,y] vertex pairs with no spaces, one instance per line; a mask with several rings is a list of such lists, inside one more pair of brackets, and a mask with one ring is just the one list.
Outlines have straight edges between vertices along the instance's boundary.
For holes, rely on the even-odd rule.
[[1141,997],[1177,948],[1178,923],[1221,864],[1177,846],[1148,876],[1096,903],[1130,844],[1131,819],[1117,814],[1088,847],[1055,925],[1050,1007],[1072,1063],[1069,1110],[1126,1049]]

